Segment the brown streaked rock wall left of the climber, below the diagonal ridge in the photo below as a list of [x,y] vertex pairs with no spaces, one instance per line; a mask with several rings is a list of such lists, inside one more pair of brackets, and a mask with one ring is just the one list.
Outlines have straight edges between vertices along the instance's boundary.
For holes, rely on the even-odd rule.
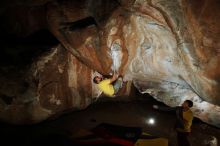
[[[17,80],[1,86],[1,93],[13,99],[8,104],[1,100],[0,117],[11,123],[34,123],[66,110],[85,108],[96,94],[91,75],[92,70],[62,46],[52,48],[24,74],[26,88],[17,89],[21,84]],[[1,82],[8,81],[2,78]]]

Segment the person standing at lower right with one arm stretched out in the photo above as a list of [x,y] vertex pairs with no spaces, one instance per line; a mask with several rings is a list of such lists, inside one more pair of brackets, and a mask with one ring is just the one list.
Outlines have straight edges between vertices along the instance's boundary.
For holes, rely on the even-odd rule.
[[189,134],[191,132],[193,112],[191,111],[193,102],[185,100],[182,106],[177,107],[161,107],[154,105],[153,108],[161,111],[175,111],[176,112],[176,125],[178,146],[190,146]]

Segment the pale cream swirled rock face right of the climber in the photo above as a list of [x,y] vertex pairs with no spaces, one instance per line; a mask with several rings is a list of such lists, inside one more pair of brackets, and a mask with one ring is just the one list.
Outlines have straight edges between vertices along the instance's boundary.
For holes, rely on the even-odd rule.
[[[134,56],[129,56],[130,62],[125,69],[125,76],[134,79],[135,85],[141,92],[150,93],[167,105],[176,106],[185,99],[192,99],[195,102],[195,115],[219,126],[220,86],[216,78],[219,77],[219,47],[206,48],[210,52],[207,51],[205,53],[207,55],[203,57],[209,60],[209,63],[202,62],[199,52],[204,54],[202,48],[205,47],[198,46],[202,45],[195,43],[200,40],[199,37],[192,32],[190,34],[190,29],[187,29],[194,28],[194,31],[200,32],[196,30],[200,28],[193,27],[193,23],[187,23],[187,19],[183,17],[182,8],[185,3],[152,1],[144,4],[155,8],[154,10],[165,19],[166,23],[163,23],[164,19],[159,19],[160,22],[149,16],[143,16],[143,12],[141,15],[131,15],[131,23],[125,26],[126,30],[130,30],[130,35],[125,35],[128,36],[125,40],[128,54]],[[139,9],[146,8],[143,6],[143,1],[136,1],[135,6]],[[195,6],[191,7],[194,9]],[[207,10],[204,8],[203,11]],[[215,15],[211,19],[216,21],[217,18],[219,16]],[[210,28],[210,31],[211,34],[212,31],[213,34],[219,33],[219,31],[215,32],[215,28]],[[191,36],[194,36],[194,40]],[[219,38],[218,35],[215,37]],[[210,40],[215,40],[215,37],[211,37]]]

